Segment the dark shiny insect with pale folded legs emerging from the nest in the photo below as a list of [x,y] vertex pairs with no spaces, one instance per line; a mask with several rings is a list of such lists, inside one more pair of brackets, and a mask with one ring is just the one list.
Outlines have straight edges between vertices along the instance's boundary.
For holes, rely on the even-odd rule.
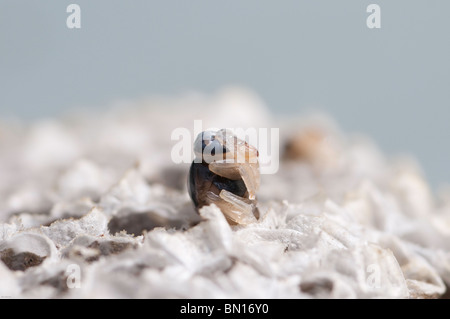
[[255,222],[259,218],[258,150],[222,129],[200,133],[194,152],[188,189],[197,210],[215,204],[230,225]]

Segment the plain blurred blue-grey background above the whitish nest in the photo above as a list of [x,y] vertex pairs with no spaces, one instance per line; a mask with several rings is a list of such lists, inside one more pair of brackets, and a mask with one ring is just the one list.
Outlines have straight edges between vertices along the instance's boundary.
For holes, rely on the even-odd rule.
[[[66,7],[81,7],[81,29]],[[366,7],[381,7],[368,29]],[[1,0],[0,116],[242,85],[450,181],[450,1]]]

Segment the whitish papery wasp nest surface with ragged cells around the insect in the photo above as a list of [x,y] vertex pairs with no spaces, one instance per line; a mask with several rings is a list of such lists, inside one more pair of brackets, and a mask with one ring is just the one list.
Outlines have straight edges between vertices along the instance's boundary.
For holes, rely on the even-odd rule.
[[[197,212],[194,154],[173,159],[174,132],[192,148],[198,132],[249,127],[280,136],[258,218]],[[240,89],[0,123],[0,176],[0,296],[438,298],[450,285],[450,195],[413,159],[323,116],[275,119]]]

